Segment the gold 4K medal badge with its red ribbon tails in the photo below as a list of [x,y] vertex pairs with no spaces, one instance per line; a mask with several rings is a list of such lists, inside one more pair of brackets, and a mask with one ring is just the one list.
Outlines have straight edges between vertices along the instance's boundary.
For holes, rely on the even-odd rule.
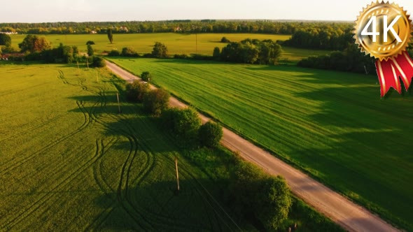
[[371,3],[363,8],[354,28],[356,44],[377,59],[381,96],[390,87],[401,93],[400,79],[408,89],[413,77],[413,61],[406,52],[412,38],[412,21],[395,3]]

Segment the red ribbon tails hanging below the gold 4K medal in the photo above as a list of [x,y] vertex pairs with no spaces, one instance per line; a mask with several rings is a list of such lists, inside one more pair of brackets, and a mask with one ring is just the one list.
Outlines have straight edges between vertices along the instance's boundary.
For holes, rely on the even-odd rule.
[[393,87],[399,94],[402,93],[400,78],[405,84],[405,89],[409,89],[413,78],[413,60],[407,52],[403,52],[398,57],[391,57],[387,61],[376,61],[377,75],[379,75],[380,93],[383,97],[390,87]]

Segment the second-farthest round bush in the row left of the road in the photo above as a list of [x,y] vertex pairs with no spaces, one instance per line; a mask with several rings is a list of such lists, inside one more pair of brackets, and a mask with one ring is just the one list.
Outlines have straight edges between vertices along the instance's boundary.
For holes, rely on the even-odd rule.
[[144,96],[144,109],[152,115],[159,116],[169,106],[169,93],[165,89],[155,89]]

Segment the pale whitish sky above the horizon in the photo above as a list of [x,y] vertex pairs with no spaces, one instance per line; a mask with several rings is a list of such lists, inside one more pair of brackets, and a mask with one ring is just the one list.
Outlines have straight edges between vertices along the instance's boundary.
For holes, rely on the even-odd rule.
[[[365,0],[13,0],[0,22],[202,19],[354,21]],[[396,1],[413,13],[412,0]],[[412,17],[413,18],[413,17]]]

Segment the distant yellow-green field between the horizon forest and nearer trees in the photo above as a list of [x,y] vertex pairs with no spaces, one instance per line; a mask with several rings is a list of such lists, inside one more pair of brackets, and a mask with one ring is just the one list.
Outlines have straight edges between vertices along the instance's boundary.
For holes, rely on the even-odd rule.
[[[241,41],[245,38],[258,38],[260,40],[272,39],[274,41],[285,41],[290,36],[270,35],[270,34],[114,34],[113,44],[109,43],[106,34],[86,34],[86,35],[46,35],[48,41],[52,42],[53,46],[58,46],[59,43],[65,45],[76,45],[85,52],[86,42],[94,41],[94,49],[102,52],[113,49],[122,50],[124,47],[132,47],[139,53],[148,53],[153,49],[155,42],[165,43],[168,47],[169,54],[202,54],[212,55],[215,47],[223,48],[226,44],[220,43],[221,38],[226,36],[230,41]],[[18,49],[18,44],[22,43],[25,35],[13,35],[13,47]],[[196,43],[197,38],[197,43]],[[281,59],[297,61],[310,55],[323,55],[328,51],[323,50],[305,50],[300,48],[283,48]]]

